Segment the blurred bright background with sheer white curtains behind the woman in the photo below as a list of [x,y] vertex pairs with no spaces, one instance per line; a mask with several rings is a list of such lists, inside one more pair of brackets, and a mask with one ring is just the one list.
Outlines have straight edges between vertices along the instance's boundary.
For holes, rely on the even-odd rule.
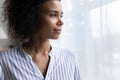
[[[63,32],[51,44],[75,52],[81,80],[120,80],[120,0],[62,0],[62,6]],[[1,47],[7,39],[1,22]]]

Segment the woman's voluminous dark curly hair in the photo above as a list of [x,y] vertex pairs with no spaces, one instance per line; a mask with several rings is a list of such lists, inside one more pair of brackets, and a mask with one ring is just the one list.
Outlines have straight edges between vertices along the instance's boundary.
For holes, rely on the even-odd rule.
[[[3,4],[8,36],[23,42],[31,39],[39,23],[39,8],[47,0],[6,0]],[[60,0],[58,0],[60,1]]]

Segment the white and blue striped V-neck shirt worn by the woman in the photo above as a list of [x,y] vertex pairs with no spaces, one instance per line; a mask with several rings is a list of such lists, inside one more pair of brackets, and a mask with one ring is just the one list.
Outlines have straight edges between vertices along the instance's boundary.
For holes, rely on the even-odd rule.
[[0,52],[0,80],[80,80],[74,54],[68,49],[55,48],[49,52],[46,76],[38,70],[22,47]]

